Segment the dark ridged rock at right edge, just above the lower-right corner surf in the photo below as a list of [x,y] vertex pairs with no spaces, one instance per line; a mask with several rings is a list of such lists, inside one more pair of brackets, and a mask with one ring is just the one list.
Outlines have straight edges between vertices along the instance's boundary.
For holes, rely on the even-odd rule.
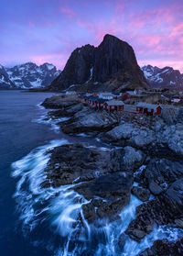
[[168,225],[175,227],[178,219],[183,218],[183,178],[171,184],[162,195],[148,201],[136,208],[136,217],[130,223],[126,233],[135,240],[140,240],[136,236],[136,229],[148,234],[156,225]]

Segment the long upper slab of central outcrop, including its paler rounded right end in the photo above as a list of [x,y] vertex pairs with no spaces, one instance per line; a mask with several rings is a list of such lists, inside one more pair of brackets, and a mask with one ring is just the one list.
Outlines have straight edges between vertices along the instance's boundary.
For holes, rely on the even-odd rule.
[[134,171],[143,161],[138,150],[100,150],[84,144],[62,145],[50,153],[45,172],[48,184],[53,186],[92,181],[106,173]]

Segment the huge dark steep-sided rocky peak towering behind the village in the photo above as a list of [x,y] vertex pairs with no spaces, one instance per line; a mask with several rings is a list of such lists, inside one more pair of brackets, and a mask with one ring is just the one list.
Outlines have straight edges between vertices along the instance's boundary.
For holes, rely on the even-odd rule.
[[105,35],[98,47],[88,44],[74,50],[49,89],[121,92],[147,86],[133,48],[121,39]]

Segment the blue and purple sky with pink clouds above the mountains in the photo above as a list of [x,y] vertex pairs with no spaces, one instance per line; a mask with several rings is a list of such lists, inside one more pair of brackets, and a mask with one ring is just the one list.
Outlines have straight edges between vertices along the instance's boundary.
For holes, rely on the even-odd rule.
[[183,72],[183,0],[5,0],[0,8],[0,63],[53,63],[98,46],[105,34],[127,41],[140,66]]

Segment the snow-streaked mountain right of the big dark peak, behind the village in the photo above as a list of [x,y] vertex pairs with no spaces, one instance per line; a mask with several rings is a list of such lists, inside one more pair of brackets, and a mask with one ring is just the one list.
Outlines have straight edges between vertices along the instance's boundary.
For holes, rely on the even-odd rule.
[[171,67],[160,69],[147,65],[142,67],[147,82],[151,87],[183,89],[183,74]]

